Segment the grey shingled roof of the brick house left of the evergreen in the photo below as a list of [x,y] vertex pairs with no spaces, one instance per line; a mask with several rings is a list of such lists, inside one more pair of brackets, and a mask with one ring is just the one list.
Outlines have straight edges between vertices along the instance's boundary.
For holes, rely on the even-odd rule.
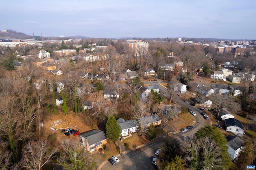
[[93,129],[87,132],[80,133],[79,136],[86,138],[88,140],[89,145],[93,145],[95,143],[103,141],[104,139],[107,139],[104,131],[101,131],[99,129]]

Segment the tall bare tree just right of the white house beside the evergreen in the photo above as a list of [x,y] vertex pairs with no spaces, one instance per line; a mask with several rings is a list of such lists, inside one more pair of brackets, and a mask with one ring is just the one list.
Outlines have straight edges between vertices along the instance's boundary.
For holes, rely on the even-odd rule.
[[150,112],[148,110],[148,107],[146,107],[145,105],[146,105],[145,100],[139,100],[137,107],[135,106],[132,107],[134,111],[134,118],[137,119],[138,123],[140,124],[140,127],[139,127],[140,137],[142,137],[142,135],[146,134],[148,131],[147,123],[144,117],[150,115]]

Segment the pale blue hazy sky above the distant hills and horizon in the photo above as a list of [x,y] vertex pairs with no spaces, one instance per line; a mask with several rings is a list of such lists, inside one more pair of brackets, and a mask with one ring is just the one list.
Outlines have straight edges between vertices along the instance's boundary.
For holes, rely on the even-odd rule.
[[2,0],[0,30],[88,37],[256,38],[256,0]]

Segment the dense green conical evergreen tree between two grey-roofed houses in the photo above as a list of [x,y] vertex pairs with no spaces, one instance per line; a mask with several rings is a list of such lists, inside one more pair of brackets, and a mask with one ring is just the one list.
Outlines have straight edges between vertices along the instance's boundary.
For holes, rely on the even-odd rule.
[[114,116],[110,116],[106,123],[106,135],[108,139],[116,141],[119,139],[121,133],[120,126],[118,125]]

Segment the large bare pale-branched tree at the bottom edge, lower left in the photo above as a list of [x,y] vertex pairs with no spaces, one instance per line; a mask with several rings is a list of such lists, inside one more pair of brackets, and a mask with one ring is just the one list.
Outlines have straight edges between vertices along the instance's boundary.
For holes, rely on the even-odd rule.
[[30,140],[23,150],[20,166],[29,170],[41,170],[52,160],[57,150],[58,148],[50,147],[46,139]]

